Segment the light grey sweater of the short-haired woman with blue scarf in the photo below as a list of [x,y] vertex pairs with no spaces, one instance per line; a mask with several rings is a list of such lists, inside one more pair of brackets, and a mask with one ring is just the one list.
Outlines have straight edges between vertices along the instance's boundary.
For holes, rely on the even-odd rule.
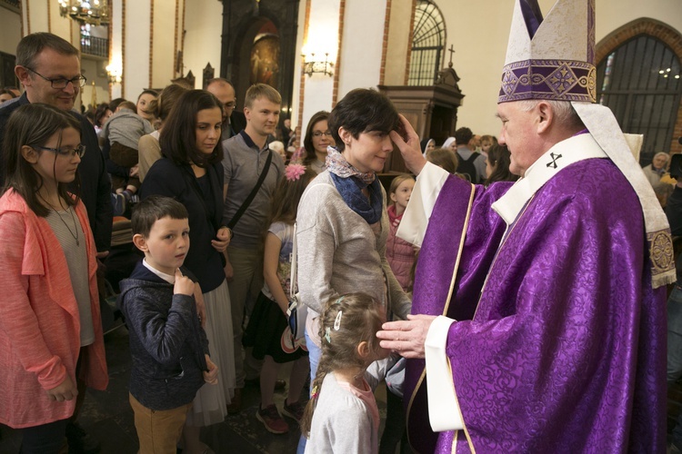
[[[309,319],[315,319],[329,299],[356,291],[376,298],[387,314],[405,318],[409,313],[412,302],[386,261],[389,221],[383,187],[381,192],[384,212],[375,233],[346,205],[328,171],[306,188],[298,205],[296,242],[298,291],[311,310]],[[314,338],[316,334],[308,331]]]

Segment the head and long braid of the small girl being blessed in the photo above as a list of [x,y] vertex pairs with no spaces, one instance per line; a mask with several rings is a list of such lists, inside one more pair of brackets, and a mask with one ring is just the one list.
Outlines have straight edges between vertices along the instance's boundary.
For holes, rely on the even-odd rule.
[[[335,322],[339,312],[342,314],[336,330]],[[317,365],[315,380],[310,384],[311,398],[301,419],[301,433],[306,438],[310,437],[313,414],[326,374],[346,368],[360,368],[364,373],[366,360],[358,354],[357,346],[366,341],[369,350],[377,351],[379,340],[376,339],[376,331],[381,330],[383,321],[380,303],[366,293],[349,293],[327,301],[325,311],[319,318],[322,356]]]

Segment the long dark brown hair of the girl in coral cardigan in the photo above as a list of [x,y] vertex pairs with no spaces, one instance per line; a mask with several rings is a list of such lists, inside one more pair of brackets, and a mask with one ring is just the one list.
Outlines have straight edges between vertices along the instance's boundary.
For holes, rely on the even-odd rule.
[[[15,110],[5,126],[5,142],[3,143],[3,160],[5,164],[5,187],[3,193],[14,189],[21,195],[28,207],[36,215],[45,217],[50,210],[38,200],[37,192],[43,186],[43,178],[35,172],[31,163],[24,159],[22,146],[35,148],[36,153],[52,153],[38,149],[45,146],[50,137],[59,133],[55,148],[62,144],[62,131],[74,128],[79,134],[81,125],[71,114],[60,111],[48,104],[25,104]],[[99,150],[88,150],[85,153],[100,153]],[[55,155],[55,158],[57,156]],[[56,161],[55,161],[56,163]],[[54,172],[54,167],[53,167]],[[68,190],[67,190],[68,187]],[[78,202],[80,175],[75,173],[73,183],[57,183],[57,192],[69,206]],[[69,193],[71,192],[71,193]],[[75,198],[71,194],[75,195]]]

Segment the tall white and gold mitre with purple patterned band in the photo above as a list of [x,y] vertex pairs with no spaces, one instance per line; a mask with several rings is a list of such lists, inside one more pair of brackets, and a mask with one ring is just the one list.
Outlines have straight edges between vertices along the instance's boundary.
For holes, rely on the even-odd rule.
[[498,103],[597,101],[595,0],[557,0],[543,19],[537,0],[517,0]]

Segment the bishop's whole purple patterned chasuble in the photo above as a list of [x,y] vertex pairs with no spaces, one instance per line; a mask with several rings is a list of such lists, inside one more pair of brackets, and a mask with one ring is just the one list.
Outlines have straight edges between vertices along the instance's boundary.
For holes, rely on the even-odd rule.
[[465,429],[435,439],[424,361],[409,360],[410,443],[424,453],[454,443],[456,452],[665,452],[666,290],[651,287],[637,194],[607,159],[571,164],[498,250],[506,224],[490,205],[509,187],[476,186],[469,204],[471,185],[450,177],[436,201],[412,312],[457,320],[446,352]]

